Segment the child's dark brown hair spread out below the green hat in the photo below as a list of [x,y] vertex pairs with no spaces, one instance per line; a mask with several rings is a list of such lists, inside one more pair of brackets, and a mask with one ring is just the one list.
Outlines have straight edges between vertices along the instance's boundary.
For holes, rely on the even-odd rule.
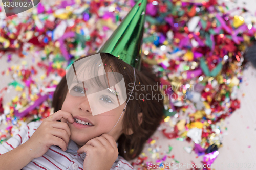
[[[105,64],[111,68],[113,72],[119,72],[123,75],[127,93],[127,99],[132,91],[134,85],[134,71],[133,67],[124,61],[118,59],[117,57],[109,53],[100,53],[101,59],[104,67]],[[88,55],[91,56],[91,55]],[[87,57],[87,56],[84,56]],[[77,60],[80,60],[84,57],[81,57]],[[77,61],[76,60],[76,61]],[[106,70],[106,68],[105,68]],[[135,69],[136,74],[136,89],[133,90],[133,94],[136,92],[137,98],[132,94],[126,108],[125,114],[123,117],[123,134],[118,139],[118,152],[119,155],[124,157],[126,160],[131,160],[139,156],[142,152],[144,144],[148,138],[156,131],[163,118],[163,100],[162,97],[157,99],[159,95],[162,95],[159,90],[154,90],[154,88],[143,88],[150,85],[153,87],[156,86],[159,80],[156,78],[155,74],[152,74],[150,68],[141,67],[141,70],[138,71]],[[132,85],[129,85],[132,83]],[[66,91],[63,93],[63,90]],[[64,76],[59,82],[53,96],[52,107],[54,107],[54,112],[61,109],[62,104],[66,98],[68,92],[66,76]],[[146,96],[150,100],[140,100],[138,96]],[[148,97],[148,94],[150,97]],[[153,97],[155,96],[155,98]],[[127,102],[127,100],[126,100]],[[139,123],[138,113],[142,112],[142,123]],[[133,134],[127,135],[129,129],[132,129]]]

